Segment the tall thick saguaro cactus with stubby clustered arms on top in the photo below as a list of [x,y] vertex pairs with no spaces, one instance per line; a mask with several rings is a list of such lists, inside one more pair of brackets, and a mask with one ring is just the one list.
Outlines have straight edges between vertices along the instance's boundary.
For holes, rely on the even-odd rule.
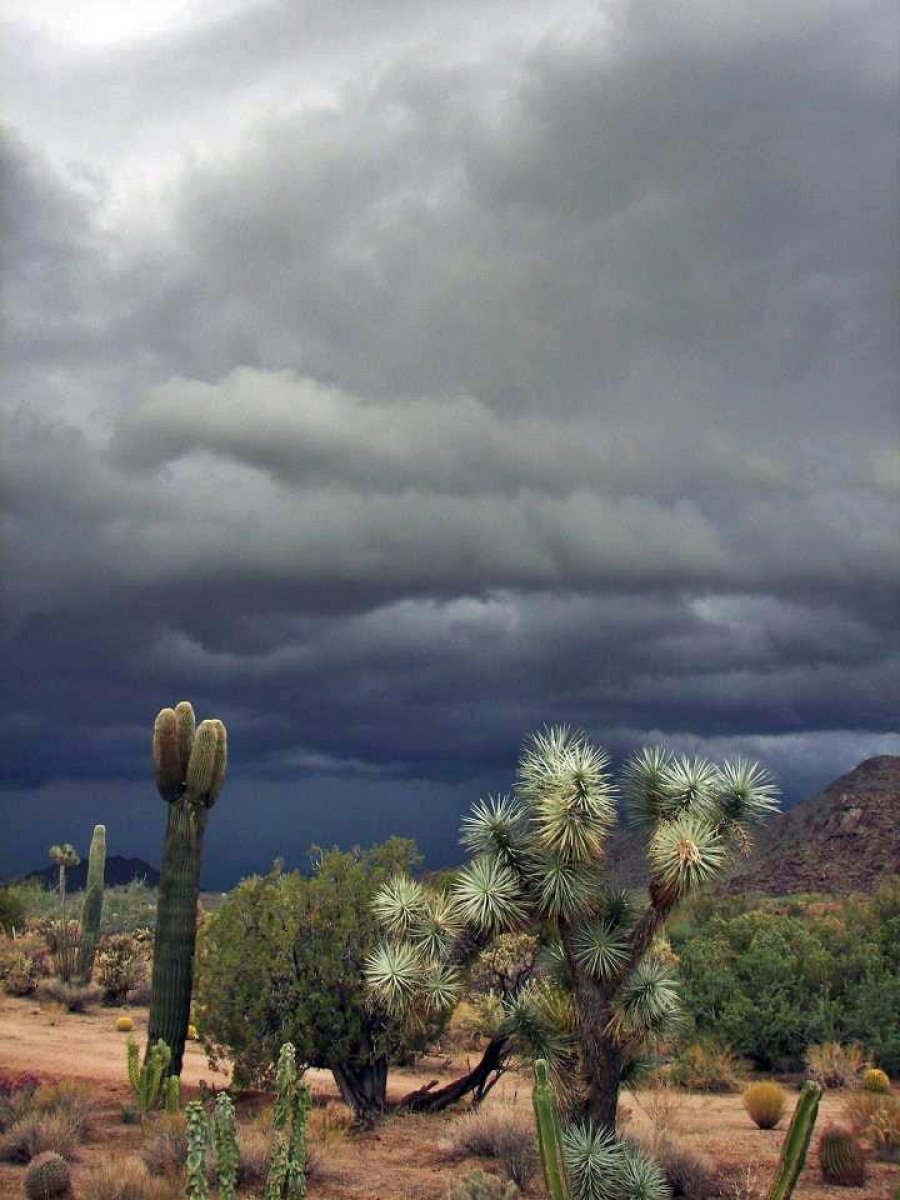
[[154,725],[154,774],[169,812],[160,872],[148,1045],[162,1038],[170,1048],[172,1075],[181,1074],[191,1016],[203,835],[227,764],[226,727],[221,721],[196,725],[186,700],[162,709]]

